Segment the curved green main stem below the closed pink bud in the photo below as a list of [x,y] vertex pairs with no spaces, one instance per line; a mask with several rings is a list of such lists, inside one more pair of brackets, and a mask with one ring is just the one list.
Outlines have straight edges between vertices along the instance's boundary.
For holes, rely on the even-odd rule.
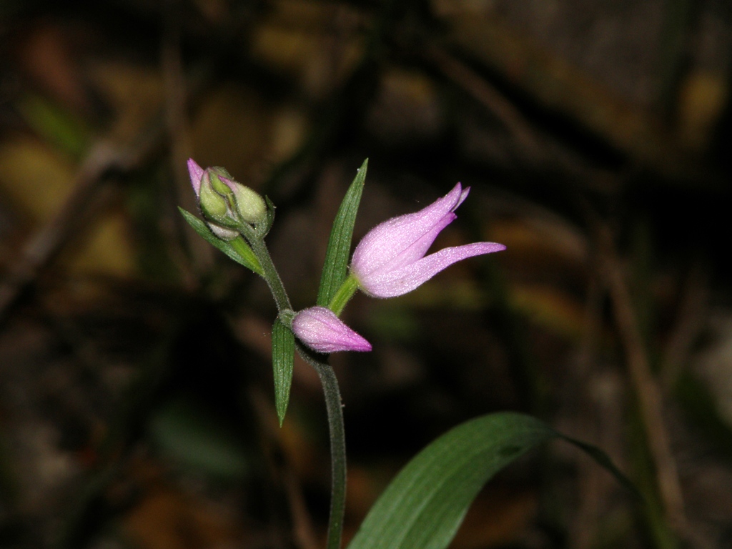
[[297,342],[297,352],[302,359],[315,368],[323,386],[325,406],[330,430],[330,459],[332,486],[330,518],[328,521],[327,549],[340,549],[343,535],[343,515],[346,513],[346,430],[343,427],[343,405],[340,400],[338,380],[333,368],[321,362],[313,351]]

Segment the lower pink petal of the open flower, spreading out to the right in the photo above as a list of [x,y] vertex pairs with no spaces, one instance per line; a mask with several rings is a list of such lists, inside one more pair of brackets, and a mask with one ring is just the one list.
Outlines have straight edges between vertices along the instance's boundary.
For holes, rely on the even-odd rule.
[[388,272],[381,277],[367,279],[362,283],[362,289],[374,297],[396,297],[418,288],[430,280],[438,272],[447,269],[450,265],[475,255],[500,252],[505,250],[503,244],[496,242],[475,242],[463,246],[444,248],[436,253],[427,255],[416,263]]

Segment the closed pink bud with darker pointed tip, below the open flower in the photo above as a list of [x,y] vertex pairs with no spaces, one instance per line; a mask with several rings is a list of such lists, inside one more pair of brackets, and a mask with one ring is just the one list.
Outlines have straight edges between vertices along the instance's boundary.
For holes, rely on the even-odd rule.
[[371,350],[367,340],[325,307],[301,310],[292,321],[292,331],[302,343],[318,353]]

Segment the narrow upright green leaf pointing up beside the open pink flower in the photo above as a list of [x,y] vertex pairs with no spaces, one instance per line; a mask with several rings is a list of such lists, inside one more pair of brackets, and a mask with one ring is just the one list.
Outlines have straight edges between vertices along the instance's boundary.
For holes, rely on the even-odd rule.
[[333,220],[328,249],[325,253],[323,275],[318,289],[318,305],[321,307],[328,306],[340,285],[346,280],[351,237],[354,235],[354,223],[356,223],[356,213],[359,211],[361,193],[366,181],[367,167],[368,159],[364,160],[356,173],[354,182],[351,183],[351,187],[348,187],[346,196],[343,197],[343,202],[340,203],[338,213]]

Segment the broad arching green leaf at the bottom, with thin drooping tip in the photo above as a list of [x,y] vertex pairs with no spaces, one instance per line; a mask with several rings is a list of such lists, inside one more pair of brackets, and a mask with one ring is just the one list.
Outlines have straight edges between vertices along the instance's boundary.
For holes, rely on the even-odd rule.
[[458,425],[419,452],[378,498],[348,549],[447,548],[482,486],[529,449],[558,437],[630,485],[600,449],[531,416],[488,414]]

